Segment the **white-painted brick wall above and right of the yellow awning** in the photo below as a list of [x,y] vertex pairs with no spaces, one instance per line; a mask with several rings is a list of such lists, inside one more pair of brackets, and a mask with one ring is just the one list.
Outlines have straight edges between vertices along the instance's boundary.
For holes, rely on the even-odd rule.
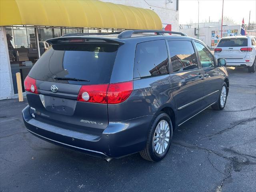
[[172,31],[179,31],[179,12],[176,11],[176,0],[101,0],[114,4],[151,9],[160,17],[162,24],[172,24]]

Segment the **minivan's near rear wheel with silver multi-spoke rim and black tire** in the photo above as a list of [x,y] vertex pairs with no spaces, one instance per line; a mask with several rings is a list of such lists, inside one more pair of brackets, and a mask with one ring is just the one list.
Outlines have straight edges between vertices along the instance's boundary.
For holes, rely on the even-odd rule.
[[158,162],[168,153],[171,140],[172,121],[168,114],[160,113],[148,131],[146,146],[140,155],[148,161]]

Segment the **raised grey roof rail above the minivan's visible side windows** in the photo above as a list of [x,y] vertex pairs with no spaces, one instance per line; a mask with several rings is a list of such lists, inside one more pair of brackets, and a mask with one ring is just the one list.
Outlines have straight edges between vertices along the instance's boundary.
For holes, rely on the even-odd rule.
[[156,33],[157,35],[163,34],[163,33],[171,33],[171,34],[177,34],[181,36],[187,36],[187,34],[182,33],[182,32],[175,32],[175,31],[161,31],[161,30],[125,30],[121,32],[118,35],[118,38],[120,39],[126,39],[126,38],[131,38],[132,34],[134,33]]

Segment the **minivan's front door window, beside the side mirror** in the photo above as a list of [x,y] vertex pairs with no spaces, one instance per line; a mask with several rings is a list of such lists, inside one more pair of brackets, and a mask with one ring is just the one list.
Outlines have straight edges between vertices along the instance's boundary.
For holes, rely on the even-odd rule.
[[195,42],[196,48],[199,53],[202,68],[204,67],[214,67],[214,58],[210,51],[202,44]]

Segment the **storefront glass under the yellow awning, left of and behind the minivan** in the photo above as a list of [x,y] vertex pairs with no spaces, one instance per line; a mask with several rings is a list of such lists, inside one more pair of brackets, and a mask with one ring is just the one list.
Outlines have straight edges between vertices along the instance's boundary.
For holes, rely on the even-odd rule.
[[[36,30],[38,30],[38,43],[36,42]],[[62,30],[62,33],[61,33]],[[38,60],[38,44],[40,55],[48,48],[47,39],[60,37],[62,34],[98,32],[98,30],[88,30],[82,28],[34,28],[22,26],[5,27],[6,40],[12,71],[12,82],[14,93],[18,93],[16,84],[16,73],[20,72],[22,78],[22,90],[24,92],[24,79],[28,72]]]

